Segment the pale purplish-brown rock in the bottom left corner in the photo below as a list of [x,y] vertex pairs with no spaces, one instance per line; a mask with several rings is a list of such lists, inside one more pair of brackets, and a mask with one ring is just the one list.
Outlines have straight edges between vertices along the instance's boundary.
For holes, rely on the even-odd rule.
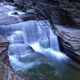
[[13,72],[8,66],[0,62],[0,80],[24,80],[24,79],[18,76],[15,72]]

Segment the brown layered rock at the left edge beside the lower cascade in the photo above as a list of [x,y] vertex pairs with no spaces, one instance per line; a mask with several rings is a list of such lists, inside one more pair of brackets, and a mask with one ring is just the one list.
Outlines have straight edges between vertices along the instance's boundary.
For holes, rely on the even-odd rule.
[[9,66],[8,46],[9,42],[0,36],[0,61]]

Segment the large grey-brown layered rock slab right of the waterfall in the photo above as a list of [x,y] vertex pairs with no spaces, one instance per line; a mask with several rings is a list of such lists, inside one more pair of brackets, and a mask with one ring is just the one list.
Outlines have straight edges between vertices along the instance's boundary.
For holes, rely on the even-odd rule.
[[56,25],[59,44],[62,51],[80,62],[80,30]]

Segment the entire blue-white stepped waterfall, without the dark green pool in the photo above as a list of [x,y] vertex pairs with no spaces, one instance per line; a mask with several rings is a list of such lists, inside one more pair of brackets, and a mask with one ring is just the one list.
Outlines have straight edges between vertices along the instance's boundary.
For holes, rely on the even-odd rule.
[[6,32],[5,36],[10,42],[8,55],[15,70],[40,65],[45,57],[51,58],[52,61],[54,58],[57,60],[67,58],[60,52],[57,36],[47,20],[29,20],[2,26],[1,29]]

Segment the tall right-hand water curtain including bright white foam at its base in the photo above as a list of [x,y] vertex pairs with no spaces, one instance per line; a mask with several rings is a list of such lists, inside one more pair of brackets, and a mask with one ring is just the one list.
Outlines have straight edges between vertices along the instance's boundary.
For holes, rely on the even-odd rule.
[[57,36],[53,33],[47,20],[28,21],[23,28],[25,44],[31,46],[35,52],[40,52],[45,56],[49,55],[50,58],[53,56],[57,59],[67,58],[60,52]]

